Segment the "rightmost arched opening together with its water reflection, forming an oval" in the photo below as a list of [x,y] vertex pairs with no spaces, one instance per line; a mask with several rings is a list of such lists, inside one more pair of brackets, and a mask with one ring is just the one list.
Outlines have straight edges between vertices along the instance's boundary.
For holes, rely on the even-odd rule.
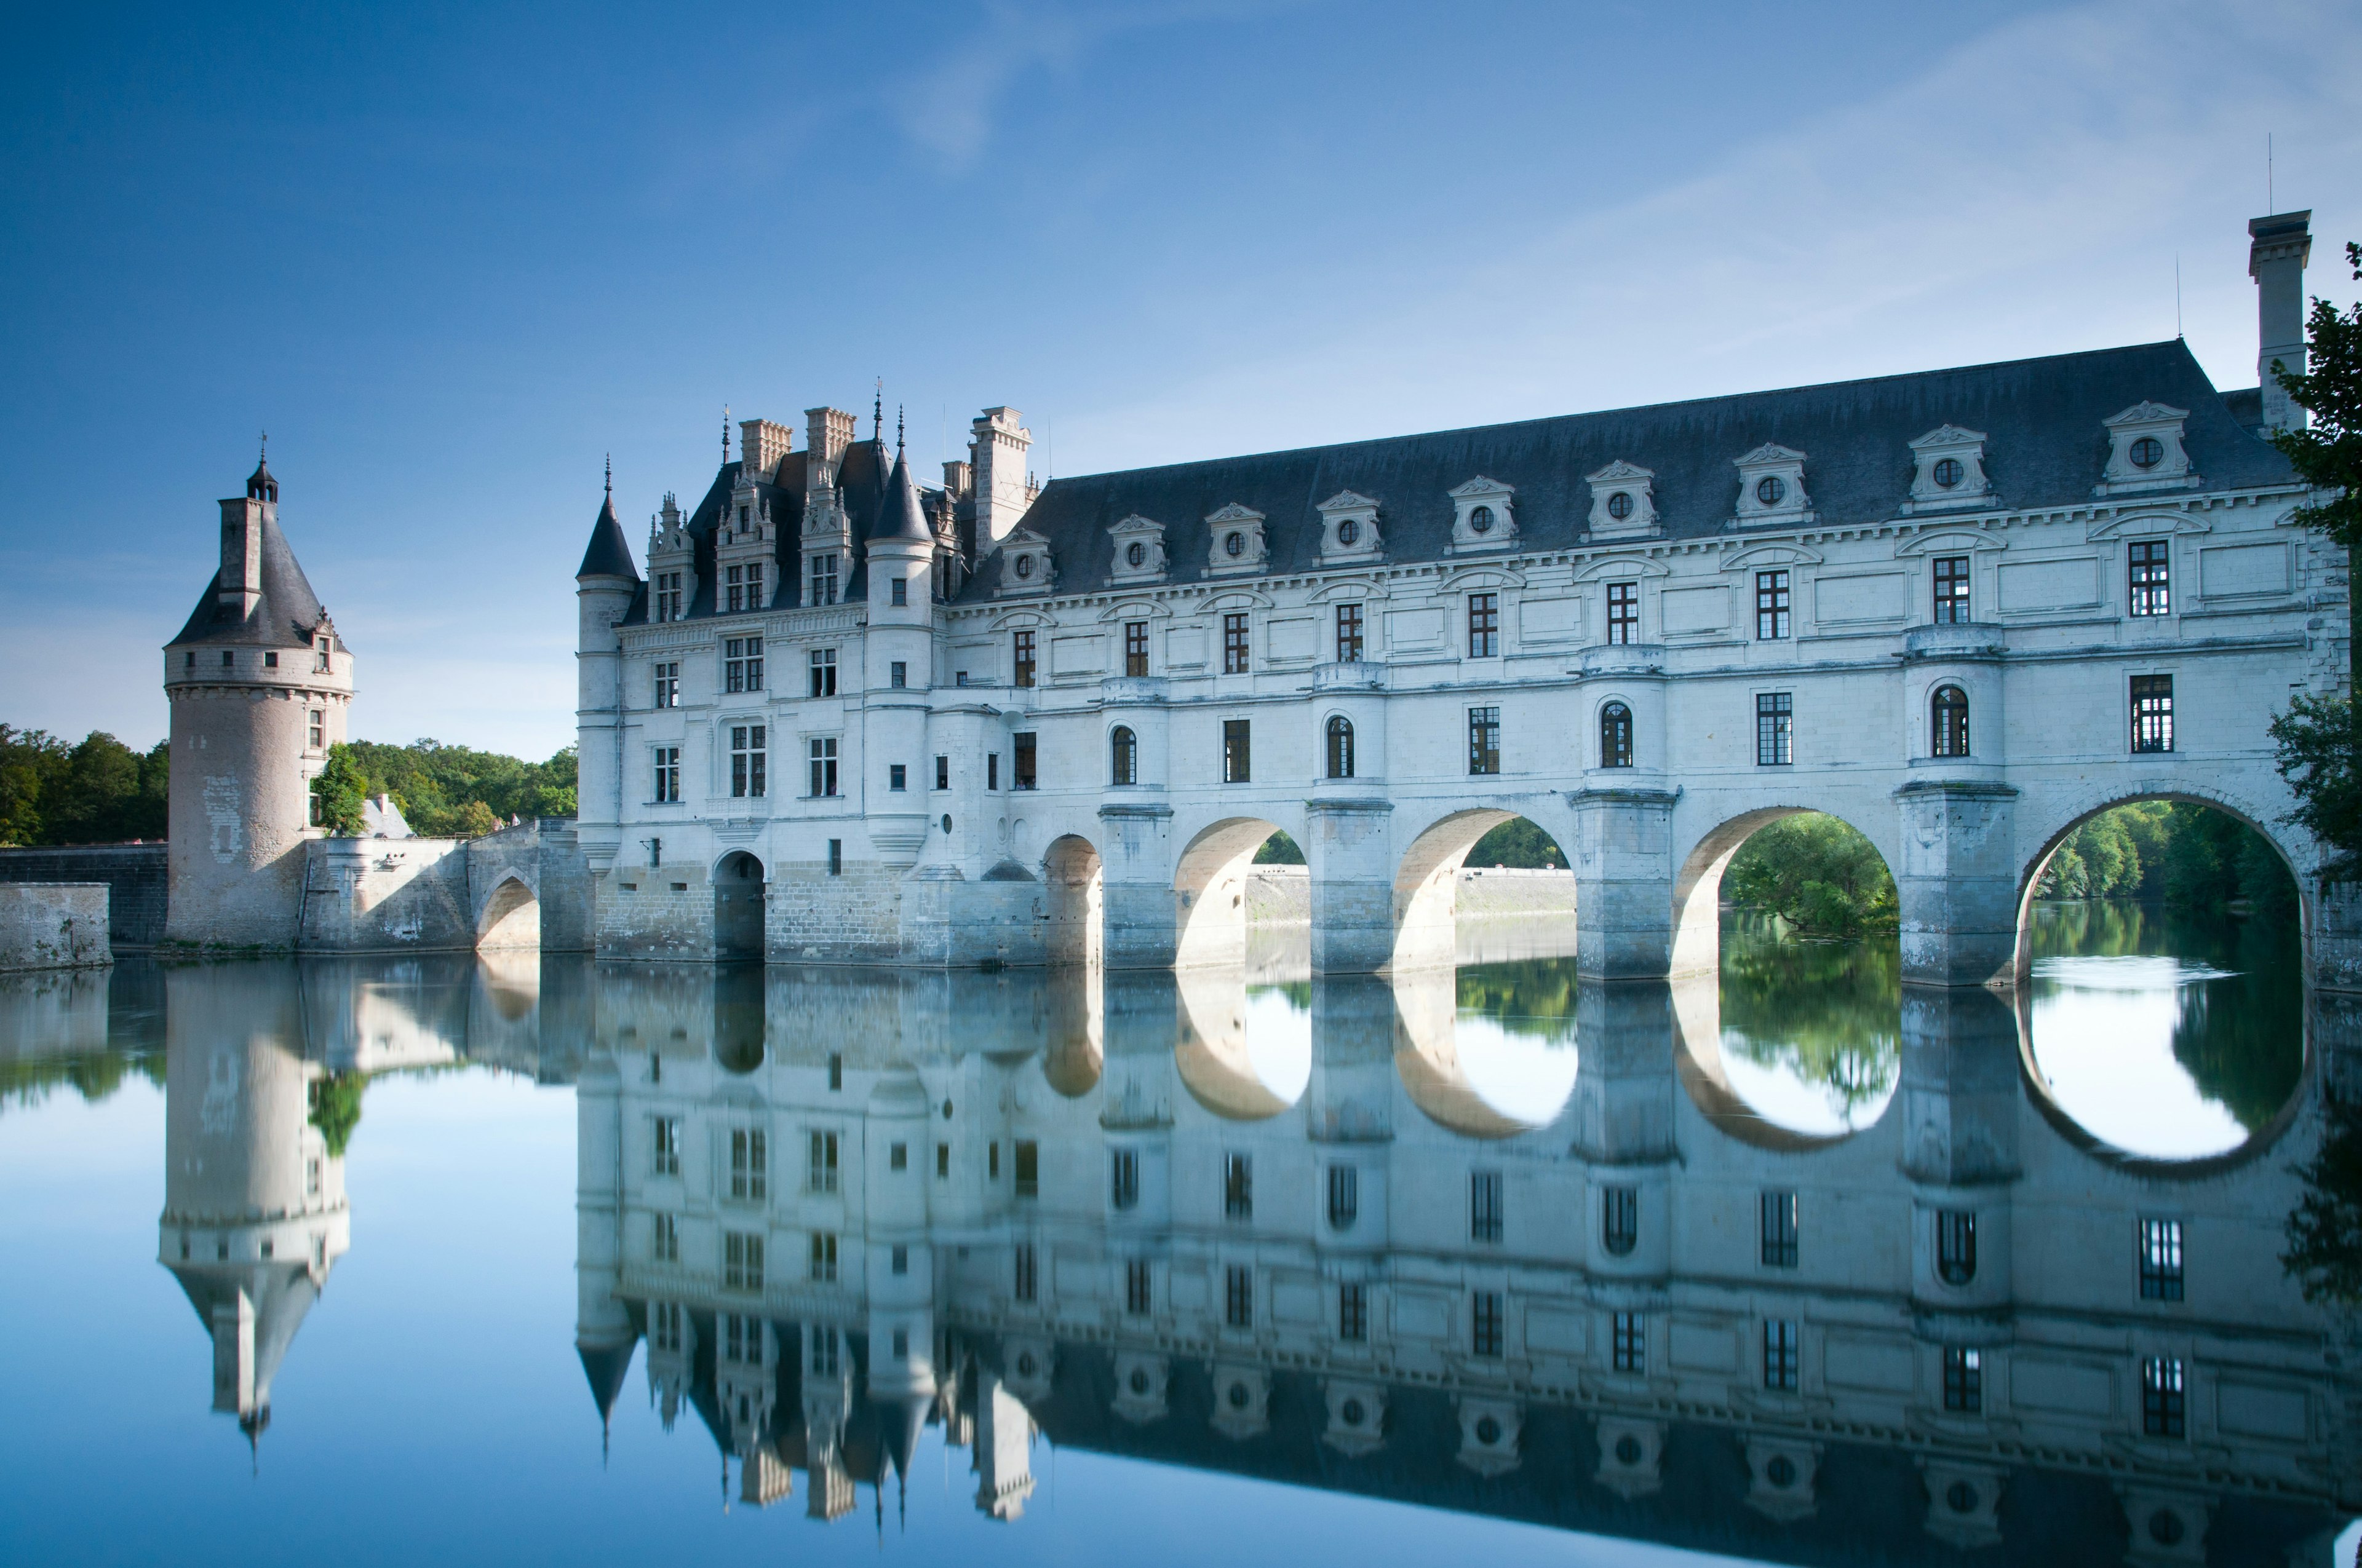
[[2220,801],[2112,801],[2053,831],[2017,923],[2045,1110],[2142,1162],[2268,1141],[2305,1070],[2303,933],[2286,848]]

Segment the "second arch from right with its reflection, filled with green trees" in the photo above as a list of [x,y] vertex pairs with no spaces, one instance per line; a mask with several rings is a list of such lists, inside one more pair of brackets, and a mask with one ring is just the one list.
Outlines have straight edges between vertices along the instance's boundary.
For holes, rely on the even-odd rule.
[[1878,845],[1795,808],[1708,834],[1675,886],[1682,1082],[1764,1148],[1873,1126],[1901,1082],[1897,893]]

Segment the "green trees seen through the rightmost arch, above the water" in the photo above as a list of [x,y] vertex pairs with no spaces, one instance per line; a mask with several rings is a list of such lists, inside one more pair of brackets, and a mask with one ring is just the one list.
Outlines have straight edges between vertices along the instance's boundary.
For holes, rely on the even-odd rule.
[[2036,897],[2135,897],[2178,909],[2246,902],[2296,914],[2296,878],[2272,843],[2230,812],[2192,801],[2133,801],[2067,834]]

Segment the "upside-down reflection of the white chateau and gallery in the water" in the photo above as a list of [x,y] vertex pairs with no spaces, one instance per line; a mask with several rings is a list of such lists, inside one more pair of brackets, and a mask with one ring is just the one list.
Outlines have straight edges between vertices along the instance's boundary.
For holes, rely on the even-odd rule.
[[1710,987],[1583,987],[1571,1091],[1455,1001],[602,968],[600,1410],[645,1339],[666,1426],[822,1518],[938,1422],[1004,1518],[1035,1433],[1781,1561],[2327,1563],[2362,1507],[2343,1329],[2275,1256],[2310,1112],[2109,1159],[2008,1001],[1911,992],[1885,1115],[1812,1138],[1686,1046]]

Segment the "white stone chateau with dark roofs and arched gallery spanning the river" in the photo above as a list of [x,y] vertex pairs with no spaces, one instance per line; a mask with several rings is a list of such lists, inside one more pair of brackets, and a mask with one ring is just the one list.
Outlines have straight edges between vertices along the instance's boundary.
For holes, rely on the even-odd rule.
[[2308,220],[2251,224],[2244,392],[2173,340],[1039,489],[1013,409],[940,484],[883,409],[746,420],[645,571],[609,491],[576,574],[598,952],[1233,961],[1285,829],[1313,968],[1422,966],[1523,815],[1583,971],[1668,975],[1814,808],[1894,869],[1908,978],[1982,982],[2140,796],[2246,817],[2310,907],[2265,725],[2343,680],[2345,562],[2263,439]]

